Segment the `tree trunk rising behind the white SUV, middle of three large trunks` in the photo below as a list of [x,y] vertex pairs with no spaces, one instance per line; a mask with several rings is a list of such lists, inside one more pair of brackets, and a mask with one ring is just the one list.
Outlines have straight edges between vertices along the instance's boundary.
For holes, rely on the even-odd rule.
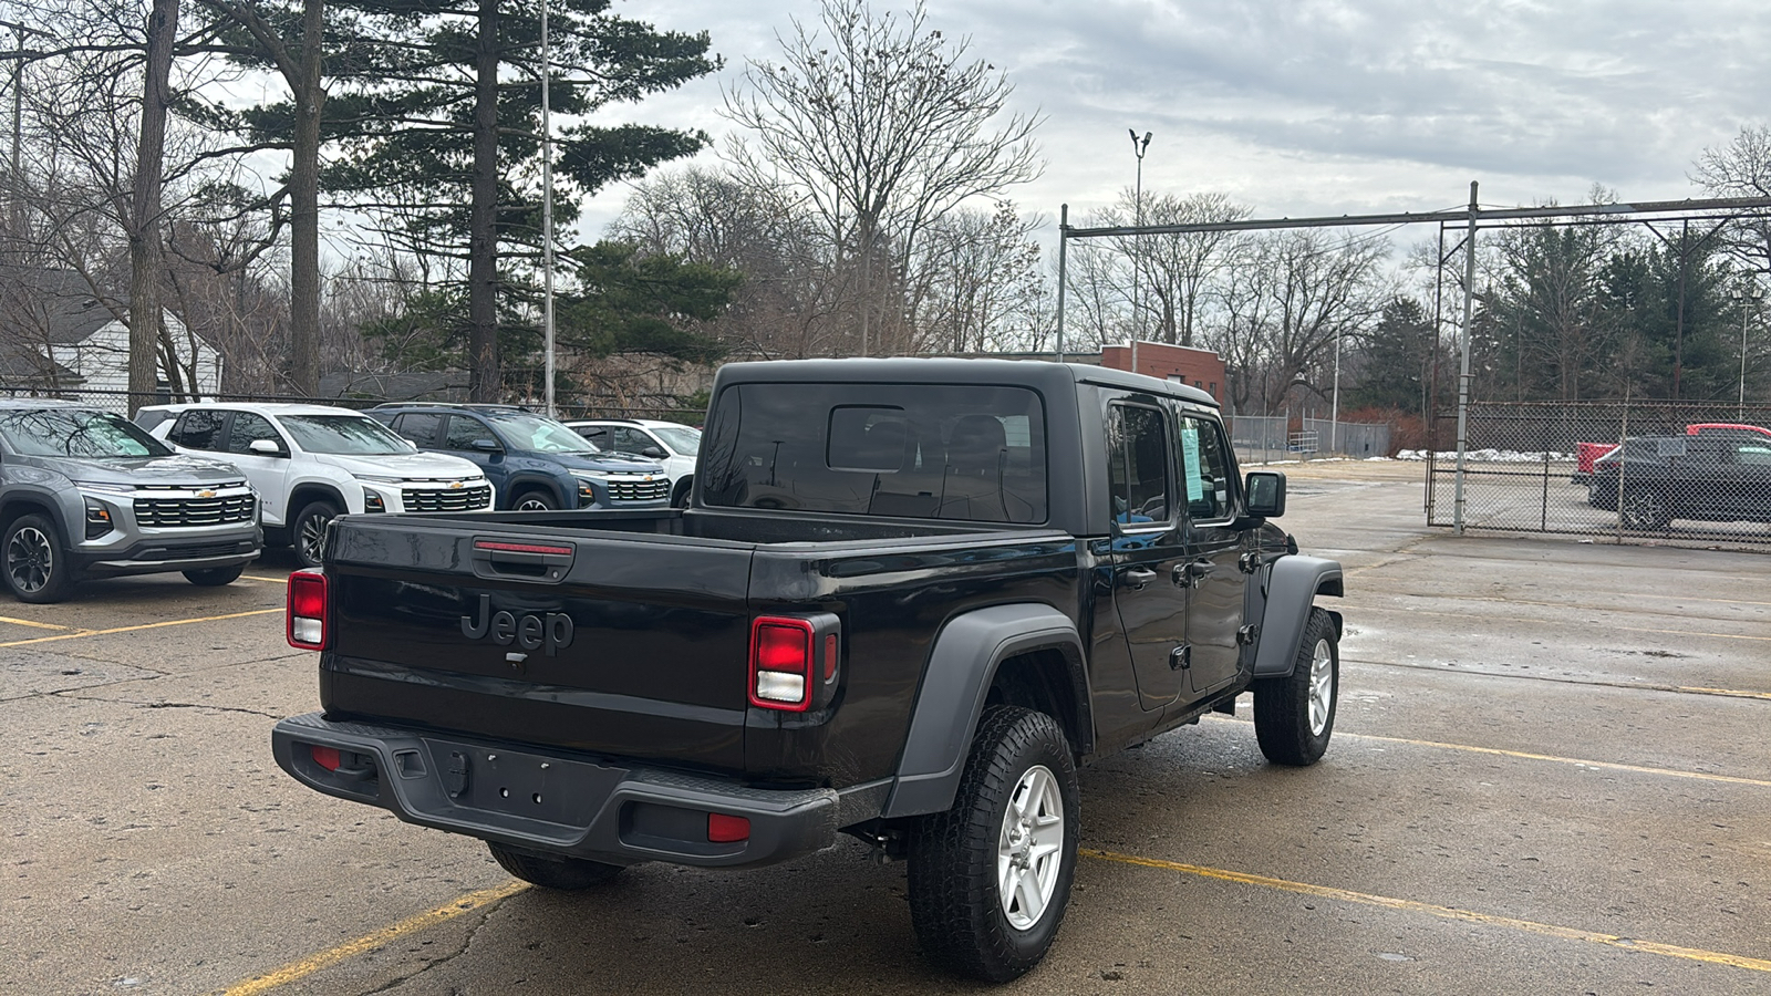
[[321,393],[321,85],[326,27],[324,0],[301,11],[301,80],[289,170],[289,381],[296,393]]

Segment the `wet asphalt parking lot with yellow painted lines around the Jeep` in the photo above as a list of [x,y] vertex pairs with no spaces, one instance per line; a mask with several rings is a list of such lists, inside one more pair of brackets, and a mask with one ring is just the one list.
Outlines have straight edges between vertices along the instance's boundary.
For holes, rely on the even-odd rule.
[[[1029,994],[1771,992],[1771,556],[1422,525],[1420,468],[1305,464],[1348,567],[1335,741],[1210,718],[1084,769]],[[0,597],[0,992],[972,992],[901,865],[639,867],[547,895],[468,838],[298,787],[287,555]]]

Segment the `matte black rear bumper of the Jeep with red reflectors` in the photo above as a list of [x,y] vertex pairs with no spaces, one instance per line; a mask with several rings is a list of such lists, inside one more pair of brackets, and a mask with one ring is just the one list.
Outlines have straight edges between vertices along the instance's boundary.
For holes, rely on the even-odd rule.
[[[313,748],[338,750],[336,771]],[[822,851],[841,826],[878,815],[889,782],[854,789],[753,789],[664,767],[473,741],[453,734],[292,716],[271,732],[276,764],[303,785],[407,822],[616,865],[770,865]],[[354,757],[351,757],[354,755]],[[710,842],[708,813],[744,817],[749,838]]]

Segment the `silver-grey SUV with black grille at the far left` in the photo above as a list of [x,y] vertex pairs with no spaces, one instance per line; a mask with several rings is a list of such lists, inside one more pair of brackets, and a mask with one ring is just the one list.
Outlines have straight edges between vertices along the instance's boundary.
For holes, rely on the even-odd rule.
[[232,466],[99,408],[0,399],[0,574],[19,599],[163,571],[227,585],[262,546],[257,494]]

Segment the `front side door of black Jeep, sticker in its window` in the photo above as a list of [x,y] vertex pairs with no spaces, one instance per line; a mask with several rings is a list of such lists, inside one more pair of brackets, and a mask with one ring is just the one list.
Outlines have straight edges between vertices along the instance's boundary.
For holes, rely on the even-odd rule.
[[1224,427],[1215,418],[1185,413],[1178,418],[1176,466],[1178,498],[1187,510],[1188,688],[1206,695],[1227,686],[1241,659],[1238,631],[1249,587],[1243,571],[1249,544],[1245,532],[1231,528],[1240,509],[1240,482]]

